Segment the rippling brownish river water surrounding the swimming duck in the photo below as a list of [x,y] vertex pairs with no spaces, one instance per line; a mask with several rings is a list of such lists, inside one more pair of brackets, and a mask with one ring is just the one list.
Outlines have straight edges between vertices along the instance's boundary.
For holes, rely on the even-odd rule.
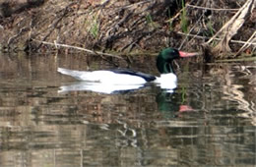
[[[0,166],[254,166],[256,64],[179,62],[173,93],[58,93],[94,57],[0,56]],[[117,62],[116,60],[112,60]],[[154,59],[133,68],[157,74]],[[126,66],[124,62],[117,62]]]

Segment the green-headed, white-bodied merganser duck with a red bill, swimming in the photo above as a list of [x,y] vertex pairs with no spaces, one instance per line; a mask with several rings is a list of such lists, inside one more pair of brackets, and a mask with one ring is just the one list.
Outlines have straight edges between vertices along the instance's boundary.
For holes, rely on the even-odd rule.
[[[172,68],[172,61],[177,58],[192,57],[197,54],[198,53],[179,51],[174,48],[163,49],[160,51],[157,58],[157,68],[160,72],[160,77],[135,72],[130,69],[98,70],[90,72],[58,68],[58,72],[63,75],[71,76],[79,81],[83,81],[83,83],[76,83],[72,88],[70,87],[73,90],[74,87],[78,88],[80,86],[82,88],[84,84],[84,87],[86,87],[84,89],[91,89],[93,91],[98,90],[99,92],[102,92],[101,89],[106,89],[107,87],[104,85],[107,85],[108,87],[112,87],[111,90],[107,90],[107,93],[110,93],[113,90],[139,88],[145,83],[158,83],[161,88],[173,89],[176,87],[177,77]],[[89,87],[90,85],[91,88]]]

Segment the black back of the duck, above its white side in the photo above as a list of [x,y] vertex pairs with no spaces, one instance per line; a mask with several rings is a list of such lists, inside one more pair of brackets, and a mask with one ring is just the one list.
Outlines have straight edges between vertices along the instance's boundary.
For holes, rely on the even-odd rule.
[[114,70],[110,70],[110,71],[113,72],[113,73],[116,73],[116,74],[125,74],[125,75],[141,77],[146,82],[153,82],[157,79],[153,75],[149,75],[149,74],[145,74],[145,73],[141,73],[141,72],[135,72],[135,71],[130,70],[130,69],[114,69]]

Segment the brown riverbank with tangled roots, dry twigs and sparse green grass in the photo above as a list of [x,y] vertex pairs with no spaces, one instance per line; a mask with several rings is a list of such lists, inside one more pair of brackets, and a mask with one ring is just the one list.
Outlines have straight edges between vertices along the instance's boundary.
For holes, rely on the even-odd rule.
[[118,57],[163,47],[207,62],[255,56],[255,0],[2,0],[2,51]]

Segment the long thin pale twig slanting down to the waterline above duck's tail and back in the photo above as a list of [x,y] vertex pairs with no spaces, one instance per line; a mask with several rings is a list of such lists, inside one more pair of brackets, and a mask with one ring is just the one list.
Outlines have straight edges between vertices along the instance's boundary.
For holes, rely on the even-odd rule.
[[57,42],[52,43],[52,42],[41,41],[41,40],[36,40],[36,39],[32,39],[32,40],[35,41],[35,42],[39,42],[39,43],[47,44],[47,45],[52,45],[52,46],[55,46],[55,47],[60,46],[60,47],[72,48],[72,49],[82,50],[82,51],[85,51],[85,52],[88,52],[88,53],[91,53],[91,54],[94,54],[94,55],[104,55],[104,56],[114,57],[114,58],[118,58],[118,59],[123,59],[122,57],[117,56],[117,55],[98,52],[98,51],[86,49],[86,48],[83,48],[83,47],[71,46],[71,45],[68,45],[68,44],[60,44],[60,43],[57,43]]

